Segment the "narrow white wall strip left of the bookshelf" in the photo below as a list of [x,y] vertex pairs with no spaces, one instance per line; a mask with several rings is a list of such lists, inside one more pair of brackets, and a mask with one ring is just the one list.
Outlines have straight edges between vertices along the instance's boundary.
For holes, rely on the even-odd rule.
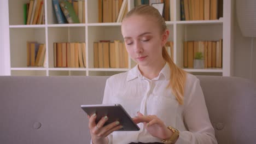
[[8,0],[1,0],[0,5],[0,75],[10,75]]

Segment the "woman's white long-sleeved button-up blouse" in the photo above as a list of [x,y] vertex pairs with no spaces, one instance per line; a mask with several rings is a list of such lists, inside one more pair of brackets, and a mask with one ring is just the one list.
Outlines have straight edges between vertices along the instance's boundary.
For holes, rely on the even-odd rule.
[[[158,77],[149,80],[136,65],[125,73],[113,75],[107,79],[103,104],[121,104],[131,117],[136,117],[138,111],[144,116],[158,116],[166,127],[180,131],[176,144],[217,143],[199,79],[187,74],[184,104],[179,105],[171,88],[166,88],[170,72],[166,64]],[[142,123],[138,127],[141,130],[114,131],[108,136],[109,143],[161,142],[150,135]]]

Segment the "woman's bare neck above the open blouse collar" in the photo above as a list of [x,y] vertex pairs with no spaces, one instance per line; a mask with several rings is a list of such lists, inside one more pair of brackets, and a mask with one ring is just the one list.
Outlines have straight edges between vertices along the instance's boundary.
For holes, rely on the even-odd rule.
[[139,66],[138,65],[138,69],[139,69],[139,71],[141,71],[141,74],[144,77],[147,77],[148,79],[152,80],[159,75],[162,68],[164,68],[165,63],[166,62],[163,59],[163,61],[156,63],[154,65],[148,65],[148,66]]

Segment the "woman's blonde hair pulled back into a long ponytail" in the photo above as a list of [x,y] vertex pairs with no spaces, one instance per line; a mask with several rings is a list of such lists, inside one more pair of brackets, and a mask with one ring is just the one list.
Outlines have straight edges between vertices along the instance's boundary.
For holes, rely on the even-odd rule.
[[[164,33],[165,30],[167,29],[164,18],[161,16],[157,9],[150,5],[138,5],[137,7],[130,10],[123,20],[135,14],[155,17],[155,19],[157,20],[156,22],[159,24],[161,33]],[[185,72],[183,69],[177,67],[177,65],[174,64],[171,57],[168,55],[165,46],[162,47],[162,57],[171,68],[171,78],[167,88],[172,88],[173,95],[176,97],[178,103],[182,105],[184,100],[184,88],[187,72]]]

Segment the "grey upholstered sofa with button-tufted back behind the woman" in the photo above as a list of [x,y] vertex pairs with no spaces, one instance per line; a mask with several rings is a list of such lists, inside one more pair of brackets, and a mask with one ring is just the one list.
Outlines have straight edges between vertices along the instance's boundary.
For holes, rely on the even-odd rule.
[[[197,76],[219,144],[256,143],[256,86]],[[0,143],[90,143],[82,104],[100,104],[107,77],[0,76]]]

